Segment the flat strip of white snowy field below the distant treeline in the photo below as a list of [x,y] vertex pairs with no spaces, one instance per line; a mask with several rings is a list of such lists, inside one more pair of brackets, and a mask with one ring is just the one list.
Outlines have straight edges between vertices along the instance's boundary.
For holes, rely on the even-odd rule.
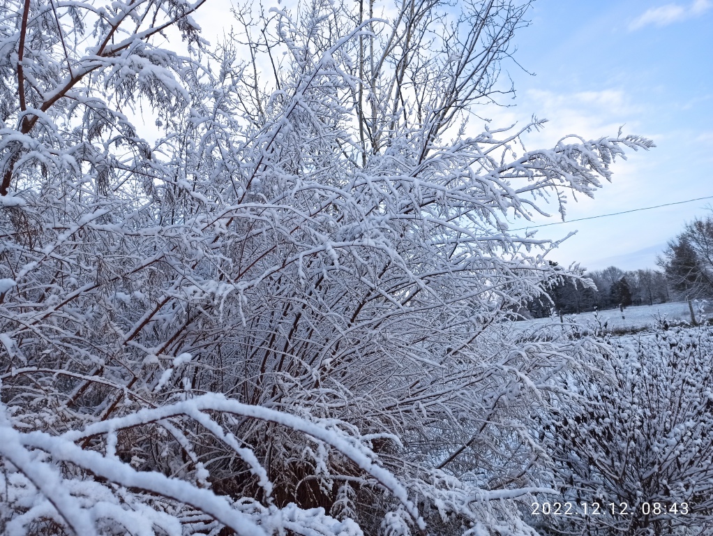
[[[619,309],[601,310],[598,313],[599,321],[602,325],[606,322],[607,328],[613,330],[642,329],[654,325],[657,318],[667,318],[668,320],[686,320],[690,322],[686,302],[660,303],[657,305],[639,305],[637,307],[627,307],[624,310],[623,318]],[[515,323],[515,329],[536,329],[547,325],[560,324],[560,318],[535,318],[534,320],[522,320]],[[565,323],[578,323],[580,325],[593,325],[595,323],[595,313],[581,313],[579,315],[565,315]]]

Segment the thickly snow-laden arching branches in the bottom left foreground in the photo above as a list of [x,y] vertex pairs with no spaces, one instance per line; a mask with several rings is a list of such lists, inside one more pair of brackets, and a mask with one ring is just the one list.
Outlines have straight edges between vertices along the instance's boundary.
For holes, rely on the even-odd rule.
[[[8,409],[10,410],[8,412]],[[374,462],[373,453],[359,440],[344,434],[338,423],[313,423],[287,413],[247,406],[208,394],[123,418],[111,418],[52,435],[39,430],[21,433],[10,422],[21,408],[0,406],[0,484],[4,488],[0,526],[6,535],[57,534],[71,530],[77,535],[96,534],[201,534],[217,535],[230,527],[237,535],[265,535],[294,531],[319,535],[358,536],[352,520],[337,521],[322,508],[303,510],[294,504],[275,507],[272,484],[265,469],[248,448],[241,447],[208,413],[232,414],[267,420],[308,434],[320,445],[330,445],[356,467],[394,494],[404,515],[423,526],[407,492],[396,478]],[[10,415],[8,415],[10,413]],[[206,478],[208,472],[196,460],[191,442],[180,429],[182,418],[200,423],[215,438],[242,457],[262,486],[266,499],[260,504],[249,497],[231,500],[216,495]],[[195,467],[190,477],[172,478],[155,471],[138,471],[117,457],[121,430],[156,423],[173,435],[183,454]],[[104,452],[83,449],[78,442],[103,436]],[[326,449],[325,449],[326,450]],[[312,531],[312,532],[310,532]]]

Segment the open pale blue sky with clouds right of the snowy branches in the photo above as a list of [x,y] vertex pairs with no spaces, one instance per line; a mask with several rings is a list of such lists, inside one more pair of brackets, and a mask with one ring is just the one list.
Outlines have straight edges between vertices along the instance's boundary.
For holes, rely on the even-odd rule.
[[[548,118],[528,148],[570,133],[615,135],[621,125],[657,145],[616,163],[612,183],[594,200],[570,203],[567,219],[713,196],[713,1],[536,0],[530,20],[515,58],[535,76],[507,67],[517,96],[503,103],[515,106],[493,111],[493,123]],[[713,199],[549,226],[538,236],[578,231],[553,252],[566,265],[654,268],[665,243],[709,206]]]

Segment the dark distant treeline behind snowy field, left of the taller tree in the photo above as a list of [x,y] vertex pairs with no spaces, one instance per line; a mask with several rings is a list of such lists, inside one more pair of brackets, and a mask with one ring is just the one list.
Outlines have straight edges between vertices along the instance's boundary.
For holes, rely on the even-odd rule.
[[654,305],[670,300],[666,275],[658,270],[625,272],[610,266],[605,270],[581,272],[579,275],[592,280],[596,288],[575,278],[563,278],[550,283],[548,295],[528,303],[530,315],[543,318],[553,312],[574,314],[617,308],[620,305]]

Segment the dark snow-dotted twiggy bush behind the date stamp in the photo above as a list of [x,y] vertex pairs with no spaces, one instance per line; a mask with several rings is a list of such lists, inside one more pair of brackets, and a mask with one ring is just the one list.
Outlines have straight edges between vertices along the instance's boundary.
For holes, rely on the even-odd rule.
[[[709,534],[713,333],[659,330],[612,342],[612,350],[601,375],[571,385],[579,402],[543,423],[561,491],[544,500],[570,502],[573,515],[540,520],[556,534]],[[600,515],[591,513],[595,502]]]

